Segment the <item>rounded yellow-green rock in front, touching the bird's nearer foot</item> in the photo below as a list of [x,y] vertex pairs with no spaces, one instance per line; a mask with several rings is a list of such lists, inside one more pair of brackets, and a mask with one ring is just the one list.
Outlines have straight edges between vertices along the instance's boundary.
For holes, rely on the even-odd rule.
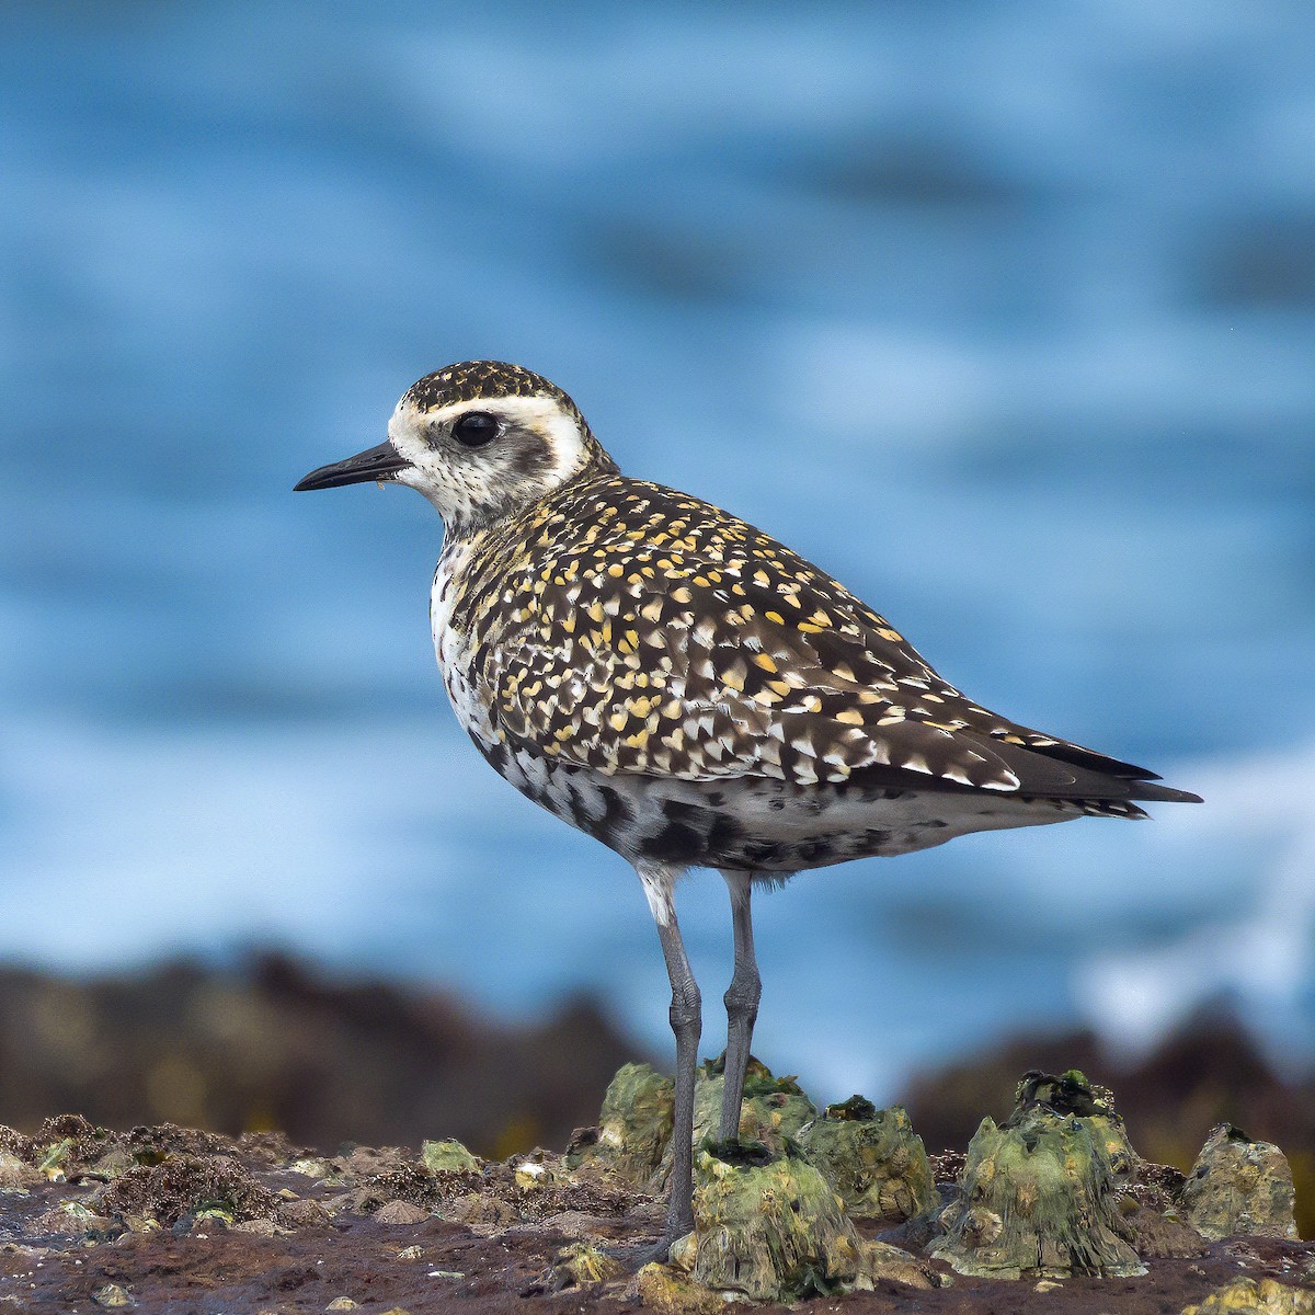
[[860,1243],[840,1198],[801,1156],[705,1144],[696,1155],[693,1278],[755,1302],[848,1290]]

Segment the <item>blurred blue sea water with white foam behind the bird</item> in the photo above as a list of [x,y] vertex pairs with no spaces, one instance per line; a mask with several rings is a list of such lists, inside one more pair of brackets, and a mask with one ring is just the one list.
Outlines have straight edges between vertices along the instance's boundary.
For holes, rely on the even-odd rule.
[[5,18],[0,953],[270,939],[663,1040],[638,884],[443,705],[429,508],[289,493],[497,356],[976,698],[1208,796],[761,899],[769,1063],[880,1097],[1219,993],[1315,1045],[1308,4]]

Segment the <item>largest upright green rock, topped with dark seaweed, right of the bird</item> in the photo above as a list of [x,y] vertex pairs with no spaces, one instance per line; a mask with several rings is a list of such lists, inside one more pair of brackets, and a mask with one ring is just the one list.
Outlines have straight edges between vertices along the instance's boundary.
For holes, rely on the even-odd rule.
[[1086,1120],[1045,1105],[982,1119],[968,1147],[959,1199],[932,1256],[993,1278],[1124,1277],[1143,1269],[1115,1207],[1105,1141]]

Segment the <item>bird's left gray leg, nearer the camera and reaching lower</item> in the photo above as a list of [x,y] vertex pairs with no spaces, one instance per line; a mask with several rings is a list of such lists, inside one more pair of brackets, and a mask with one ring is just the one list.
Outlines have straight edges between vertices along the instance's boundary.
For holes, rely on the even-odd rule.
[[676,922],[672,888],[680,869],[663,864],[636,863],[635,871],[644,884],[648,907],[658,923],[667,976],[671,978],[671,1030],[676,1034],[676,1109],[671,1136],[671,1199],[667,1227],[658,1249],[665,1258],[667,1248],[694,1228],[694,1064],[702,1032],[702,998],[698,982],[685,956]]

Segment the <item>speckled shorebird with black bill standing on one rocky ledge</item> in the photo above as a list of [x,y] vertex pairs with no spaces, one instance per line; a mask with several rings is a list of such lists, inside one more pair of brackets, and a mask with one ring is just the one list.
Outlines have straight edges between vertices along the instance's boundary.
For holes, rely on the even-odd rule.
[[296,487],[368,480],[416,489],[443,518],[430,623],[476,748],[643,882],[676,1038],[656,1255],[694,1226],[701,997],[673,902],[689,868],[719,869],[730,890],[730,1139],[761,993],[755,886],[970,831],[1199,802],[974,704],[825,571],[709,502],[622,475],[575,402],[519,366],[426,375],[385,442]]

